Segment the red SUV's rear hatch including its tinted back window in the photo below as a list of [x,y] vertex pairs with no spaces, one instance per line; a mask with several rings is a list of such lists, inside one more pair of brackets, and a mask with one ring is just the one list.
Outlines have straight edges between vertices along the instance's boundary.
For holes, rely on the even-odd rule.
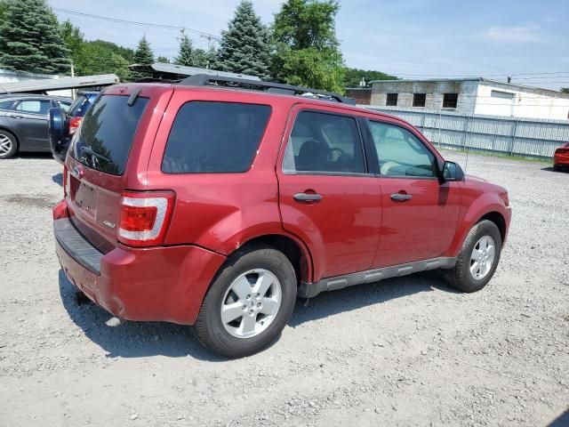
[[169,85],[111,86],[73,137],[64,171],[71,221],[103,253],[117,244],[124,190],[146,188],[149,152],[171,94]]

